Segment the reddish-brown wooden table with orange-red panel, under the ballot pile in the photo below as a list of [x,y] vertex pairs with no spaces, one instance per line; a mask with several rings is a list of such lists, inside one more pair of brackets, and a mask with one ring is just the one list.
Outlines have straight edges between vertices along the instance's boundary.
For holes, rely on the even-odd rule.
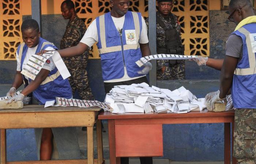
[[[99,120],[108,120],[111,164],[120,164],[120,157],[163,156],[163,124],[224,123],[224,162],[230,164],[230,125],[234,127],[234,111],[176,113],[101,112]],[[234,129],[233,129],[234,130]],[[233,164],[236,159],[233,158]]]

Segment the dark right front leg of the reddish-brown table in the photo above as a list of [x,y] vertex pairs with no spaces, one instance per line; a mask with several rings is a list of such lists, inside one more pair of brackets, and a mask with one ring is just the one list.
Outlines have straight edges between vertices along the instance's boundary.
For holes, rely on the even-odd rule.
[[224,164],[230,164],[230,122],[224,123]]

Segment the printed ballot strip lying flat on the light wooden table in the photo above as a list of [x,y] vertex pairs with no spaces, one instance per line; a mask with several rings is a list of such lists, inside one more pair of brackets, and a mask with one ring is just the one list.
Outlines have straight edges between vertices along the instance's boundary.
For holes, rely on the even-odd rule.
[[61,98],[56,97],[56,106],[77,106],[77,107],[99,107],[104,110],[110,110],[110,107],[108,104],[105,104],[103,102],[99,102],[97,100],[91,101],[91,100],[80,100],[80,99],[67,99],[67,98]]

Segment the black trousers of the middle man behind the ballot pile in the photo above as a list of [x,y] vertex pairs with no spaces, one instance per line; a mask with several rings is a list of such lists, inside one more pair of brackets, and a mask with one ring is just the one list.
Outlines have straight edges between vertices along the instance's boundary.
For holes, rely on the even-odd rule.
[[[105,92],[109,93],[109,91],[116,85],[131,85],[131,84],[139,84],[139,83],[147,83],[146,76],[133,79],[129,81],[121,81],[121,82],[113,82],[113,83],[104,83]],[[129,164],[129,157],[121,157],[121,164]],[[140,164],[153,164],[152,157],[140,157]]]

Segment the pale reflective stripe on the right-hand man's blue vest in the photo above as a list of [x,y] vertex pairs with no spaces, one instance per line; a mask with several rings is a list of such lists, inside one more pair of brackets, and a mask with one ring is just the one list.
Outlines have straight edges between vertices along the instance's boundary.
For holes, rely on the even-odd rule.
[[236,68],[234,74],[235,75],[253,75],[256,74],[256,59],[255,59],[255,53],[252,52],[252,43],[250,39],[250,32],[247,31],[244,27],[241,27],[238,29],[239,32],[245,35],[246,37],[246,45],[248,50],[248,59],[249,59],[249,68],[239,69]]

